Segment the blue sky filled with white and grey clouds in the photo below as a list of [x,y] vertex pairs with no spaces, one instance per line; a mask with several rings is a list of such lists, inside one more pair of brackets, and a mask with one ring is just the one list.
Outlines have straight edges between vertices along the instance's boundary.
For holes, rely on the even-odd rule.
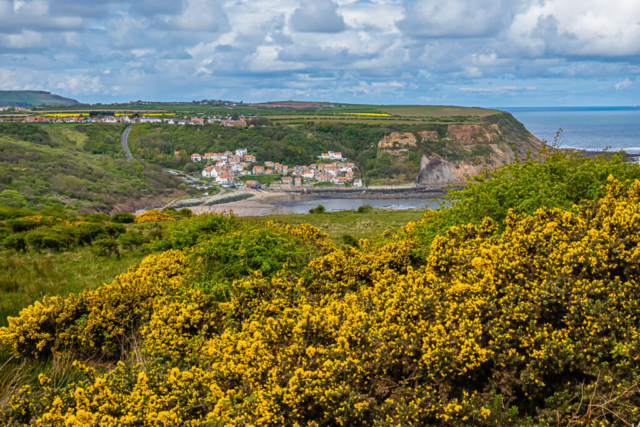
[[640,104],[638,0],[0,0],[0,90]]

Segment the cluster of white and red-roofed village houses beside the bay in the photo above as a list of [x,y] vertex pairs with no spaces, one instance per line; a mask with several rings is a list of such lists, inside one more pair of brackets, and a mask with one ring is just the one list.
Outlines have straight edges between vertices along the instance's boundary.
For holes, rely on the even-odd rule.
[[[178,156],[180,153],[175,152]],[[202,170],[202,178],[211,178],[212,182],[222,186],[244,186],[250,189],[260,189],[262,184],[258,179],[245,180],[241,177],[258,177],[262,175],[279,175],[280,181],[271,184],[272,189],[288,189],[303,185],[353,185],[362,187],[362,180],[354,179],[355,164],[342,157],[342,153],[329,151],[318,156],[318,162],[306,166],[289,167],[277,162],[265,161],[257,164],[256,157],[249,154],[245,148],[234,152],[206,153],[191,155],[194,163],[206,162]],[[329,163],[329,161],[333,161]],[[240,182],[238,182],[240,181]]]

